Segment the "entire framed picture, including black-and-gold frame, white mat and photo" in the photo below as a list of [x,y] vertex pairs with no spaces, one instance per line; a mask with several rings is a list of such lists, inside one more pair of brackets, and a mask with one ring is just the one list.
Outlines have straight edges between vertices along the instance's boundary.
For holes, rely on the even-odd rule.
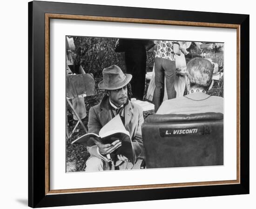
[[249,194],[249,15],[187,3],[29,2],[30,207]]

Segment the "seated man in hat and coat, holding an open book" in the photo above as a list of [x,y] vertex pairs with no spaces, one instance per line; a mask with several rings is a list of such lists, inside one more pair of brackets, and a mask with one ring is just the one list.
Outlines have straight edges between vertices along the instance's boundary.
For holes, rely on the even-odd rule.
[[113,165],[108,158],[114,150],[121,146],[121,141],[112,144],[97,144],[87,147],[90,157],[86,162],[86,171],[111,169],[139,169],[140,160],[144,157],[141,124],[144,122],[140,106],[128,100],[127,85],[132,75],[124,74],[120,67],[111,65],[102,71],[103,80],[99,83],[100,89],[105,89],[106,95],[100,104],[91,107],[89,111],[88,132],[99,134],[101,128],[117,114],[120,115],[125,129],[129,131],[135,150],[136,163],[128,162],[127,157],[118,155],[118,162]]

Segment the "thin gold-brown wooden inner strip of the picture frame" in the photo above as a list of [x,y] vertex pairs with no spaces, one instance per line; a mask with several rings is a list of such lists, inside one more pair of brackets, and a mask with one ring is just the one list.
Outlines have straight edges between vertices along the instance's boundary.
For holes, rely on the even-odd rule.
[[[211,182],[192,182],[192,183],[169,183],[169,184],[151,184],[151,185],[135,185],[135,186],[117,186],[117,187],[99,187],[99,188],[84,188],[84,189],[60,189],[50,190],[50,19],[65,19],[65,20],[91,20],[91,21],[108,21],[108,22],[125,22],[125,23],[146,23],[160,25],[176,25],[176,26],[203,26],[203,27],[220,27],[236,29],[237,40],[237,89],[236,89],[236,115],[237,115],[237,133],[236,133],[236,180],[229,181],[211,181]],[[236,24],[221,24],[207,22],[186,22],[173,20],[149,20],[149,19],[133,19],[133,18],[115,18],[115,17],[99,17],[99,16],[83,16],[83,15],[68,15],[68,14],[45,14],[45,195],[60,194],[60,193],[77,193],[77,192],[102,192],[102,191],[120,191],[120,190],[135,190],[135,189],[161,189],[175,187],[191,187],[191,186],[208,186],[208,185],[223,185],[223,184],[239,184],[240,183],[240,25]]]

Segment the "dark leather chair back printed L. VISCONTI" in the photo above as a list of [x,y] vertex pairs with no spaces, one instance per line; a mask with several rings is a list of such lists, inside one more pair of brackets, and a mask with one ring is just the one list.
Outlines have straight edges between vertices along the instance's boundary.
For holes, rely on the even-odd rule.
[[223,114],[151,115],[142,124],[147,168],[223,165]]

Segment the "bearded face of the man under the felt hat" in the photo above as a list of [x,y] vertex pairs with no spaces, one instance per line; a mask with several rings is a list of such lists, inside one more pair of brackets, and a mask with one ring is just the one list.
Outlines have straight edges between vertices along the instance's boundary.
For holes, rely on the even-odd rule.
[[126,104],[128,96],[127,96],[127,86],[124,86],[120,89],[109,90],[108,96],[115,106],[120,107],[122,104]]

